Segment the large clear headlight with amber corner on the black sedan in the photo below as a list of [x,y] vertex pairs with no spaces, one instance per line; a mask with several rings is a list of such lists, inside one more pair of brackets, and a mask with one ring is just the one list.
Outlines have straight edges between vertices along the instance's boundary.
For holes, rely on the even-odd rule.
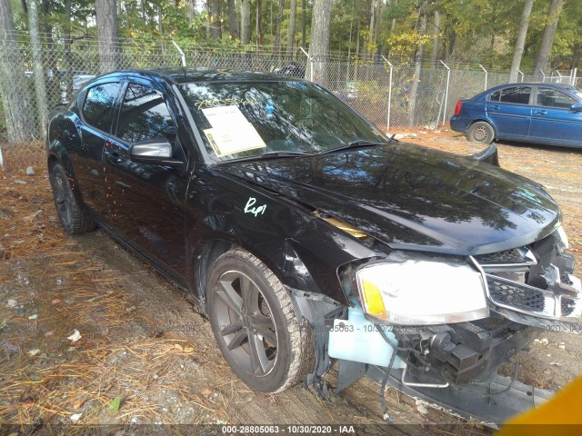
[[364,311],[378,322],[443,324],[489,316],[485,284],[468,263],[409,258],[393,253],[386,263],[356,272]]

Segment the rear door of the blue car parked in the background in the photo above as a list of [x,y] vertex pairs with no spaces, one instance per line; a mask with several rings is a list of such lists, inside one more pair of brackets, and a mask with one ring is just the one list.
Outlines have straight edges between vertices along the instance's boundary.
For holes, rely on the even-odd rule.
[[509,86],[489,95],[486,110],[495,124],[497,138],[527,139],[531,89],[531,86]]

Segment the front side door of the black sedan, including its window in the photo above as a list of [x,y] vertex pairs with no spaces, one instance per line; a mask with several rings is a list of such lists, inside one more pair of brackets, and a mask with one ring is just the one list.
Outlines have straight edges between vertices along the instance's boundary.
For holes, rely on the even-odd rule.
[[105,186],[113,204],[107,221],[127,243],[184,281],[186,174],[170,166],[135,163],[129,155],[132,144],[157,137],[174,144],[174,157],[186,159],[163,94],[128,84],[116,134],[105,148]]

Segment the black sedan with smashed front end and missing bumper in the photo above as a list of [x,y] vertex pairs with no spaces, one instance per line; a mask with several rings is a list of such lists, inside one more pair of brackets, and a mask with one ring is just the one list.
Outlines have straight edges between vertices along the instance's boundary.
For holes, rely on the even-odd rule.
[[65,231],[98,224],[191,292],[256,391],[325,392],[338,362],[336,391],[366,374],[499,421],[545,394],[497,367],[582,311],[542,186],[495,148],[389,139],[295,77],[105,74],[51,114],[46,150]]

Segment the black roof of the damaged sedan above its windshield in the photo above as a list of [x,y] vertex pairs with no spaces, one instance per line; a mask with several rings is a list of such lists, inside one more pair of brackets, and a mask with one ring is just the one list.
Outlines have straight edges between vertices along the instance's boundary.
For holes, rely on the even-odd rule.
[[303,81],[303,79],[275,73],[261,73],[257,71],[243,71],[232,69],[212,69],[212,68],[190,68],[190,67],[166,67],[151,69],[131,69],[107,73],[100,78],[105,77],[123,77],[123,76],[142,76],[155,80],[163,80],[169,84],[190,84],[196,82],[267,82],[267,81]]

